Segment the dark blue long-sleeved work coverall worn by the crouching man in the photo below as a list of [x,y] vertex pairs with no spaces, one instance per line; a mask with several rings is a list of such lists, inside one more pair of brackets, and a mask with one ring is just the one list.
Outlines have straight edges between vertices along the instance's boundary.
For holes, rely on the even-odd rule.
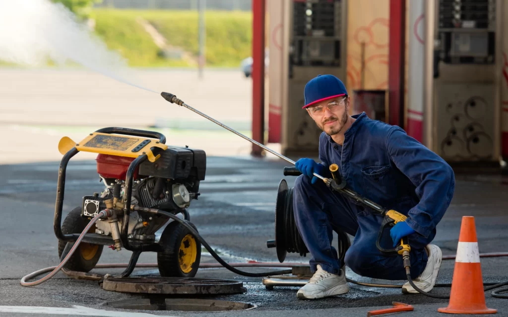
[[[328,171],[339,165],[347,187],[360,195],[408,216],[406,223],[416,231],[408,236],[411,246],[411,277],[418,277],[427,264],[424,250],[436,234],[452,200],[455,175],[448,163],[398,126],[371,120],[365,113],[345,132],[343,146],[323,132],[319,157]],[[300,175],[295,183],[293,206],[298,230],[312,255],[311,271],[316,265],[338,273],[337,252],[331,246],[332,230],[353,235],[345,264],[355,273],[372,278],[405,279],[402,256],[384,255],[376,248],[383,217],[353,199],[332,191],[323,182],[311,184]],[[381,245],[393,248],[390,230],[385,230]]]

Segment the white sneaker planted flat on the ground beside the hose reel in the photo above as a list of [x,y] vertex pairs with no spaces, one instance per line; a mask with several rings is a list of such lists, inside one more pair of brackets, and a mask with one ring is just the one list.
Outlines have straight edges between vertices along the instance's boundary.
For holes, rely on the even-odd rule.
[[349,285],[346,281],[346,274],[340,270],[340,275],[329,273],[317,265],[317,271],[296,293],[300,299],[317,299],[328,296],[335,296],[349,292]]

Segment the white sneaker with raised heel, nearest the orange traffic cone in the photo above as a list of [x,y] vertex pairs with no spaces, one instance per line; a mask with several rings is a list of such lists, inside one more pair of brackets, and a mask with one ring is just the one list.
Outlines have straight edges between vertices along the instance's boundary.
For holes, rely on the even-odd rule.
[[[427,266],[420,276],[413,280],[416,287],[424,292],[430,292],[436,284],[437,274],[439,274],[439,267],[443,258],[441,249],[437,245],[428,244],[425,248],[428,254]],[[419,294],[407,281],[402,286],[402,293],[404,294]]]

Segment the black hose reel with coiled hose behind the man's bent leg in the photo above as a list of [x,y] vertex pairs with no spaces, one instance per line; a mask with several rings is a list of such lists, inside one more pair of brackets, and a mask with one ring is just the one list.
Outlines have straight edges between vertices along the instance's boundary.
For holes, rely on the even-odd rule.
[[[284,176],[298,176],[301,172],[296,167],[284,167]],[[338,235],[337,256],[340,266],[344,265],[344,257],[351,241],[345,232],[336,230]],[[277,259],[284,262],[288,253],[298,253],[305,257],[309,253],[298,231],[293,213],[293,188],[288,187],[285,179],[279,183],[275,203],[275,240],[266,241],[268,248],[275,248]]]

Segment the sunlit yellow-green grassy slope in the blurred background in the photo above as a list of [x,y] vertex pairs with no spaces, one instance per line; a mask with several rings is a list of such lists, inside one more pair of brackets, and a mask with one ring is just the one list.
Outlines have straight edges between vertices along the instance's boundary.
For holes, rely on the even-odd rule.
[[[188,66],[182,60],[164,59],[149,34],[136,22],[142,17],[157,28],[172,46],[198,56],[198,12],[175,10],[94,9],[96,31],[110,49],[131,66]],[[206,61],[208,66],[238,66],[251,54],[250,12],[207,11]]]

